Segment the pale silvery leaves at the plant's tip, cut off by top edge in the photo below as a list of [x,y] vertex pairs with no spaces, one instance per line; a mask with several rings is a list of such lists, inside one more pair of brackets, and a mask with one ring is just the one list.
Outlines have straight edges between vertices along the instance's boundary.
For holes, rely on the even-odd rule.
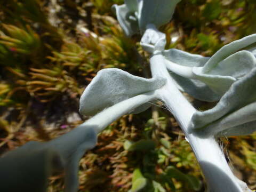
[[148,24],[157,28],[169,22],[180,0],[125,0],[123,5],[113,5],[117,20],[127,36],[146,30]]

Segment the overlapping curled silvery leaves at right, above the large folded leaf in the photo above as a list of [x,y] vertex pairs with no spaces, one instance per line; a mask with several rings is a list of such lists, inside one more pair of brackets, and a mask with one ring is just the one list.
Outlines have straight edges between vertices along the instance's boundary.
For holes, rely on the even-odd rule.
[[[249,73],[256,66],[255,47],[248,47],[255,41],[256,34],[246,36],[223,46],[210,59],[175,49],[164,51],[163,55],[166,60],[178,65],[192,67],[193,78],[205,84],[204,87],[209,87],[214,92],[213,98],[218,98],[218,95],[221,96],[226,93],[231,84]],[[245,50],[239,51],[241,49]],[[213,98],[204,98],[203,93],[198,96],[198,93],[195,94],[195,92],[191,91],[201,90],[196,86],[197,83],[193,79],[189,81],[193,82],[193,84],[190,83],[191,86],[194,86],[191,89],[186,86],[185,78],[177,78],[179,75],[174,76],[177,84],[183,90],[187,90],[191,96],[199,100],[213,101]]]

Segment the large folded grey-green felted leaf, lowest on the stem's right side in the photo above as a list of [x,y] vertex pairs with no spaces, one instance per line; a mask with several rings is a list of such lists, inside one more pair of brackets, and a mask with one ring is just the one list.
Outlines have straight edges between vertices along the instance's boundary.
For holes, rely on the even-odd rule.
[[[190,129],[202,129],[204,134],[222,132],[227,135],[247,134],[255,131],[256,121],[256,68],[239,79],[210,110],[197,111],[191,120]],[[246,125],[245,125],[246,124]],[[242,128],[246,129],[243,131]],[[241,130],[239,130],[241,129]]]

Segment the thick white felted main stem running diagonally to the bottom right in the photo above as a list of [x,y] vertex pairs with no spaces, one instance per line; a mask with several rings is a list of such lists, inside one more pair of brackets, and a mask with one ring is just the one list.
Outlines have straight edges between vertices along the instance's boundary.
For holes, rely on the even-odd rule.
[[[158,91],[160,98],[165,102],[167,109],[177,119],[187,141],[190,143],[208,185],[208,192],[242,192],[250,191],[239,184],[238,179],[231,172],[225,155],[214,137],[200,138],[189,133],[188,125],[196,109],[191,106],[182,93],[177,89],[164,65],[161,52],[150,58],[151,73],[167,79],[167,83]],[[243,186],[244,187],[244,186]]]

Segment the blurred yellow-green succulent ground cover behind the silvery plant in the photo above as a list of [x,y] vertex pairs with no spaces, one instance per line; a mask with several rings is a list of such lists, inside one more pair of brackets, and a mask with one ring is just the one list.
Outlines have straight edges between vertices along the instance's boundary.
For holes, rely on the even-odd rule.
[[[141,36],[126,38],[111,5],[122,0],[0,1],[0,154],[47,141],[88,117],[79,97],[103,68],[149,77]],[[166,49],[211,56],[255,33],[255,0],[182,0],[161,30]],[[214,103],[189,100],[201,110]],[[161,103],[159,103],[161,105]],[[256,134],[220,143],[238,178],[256,188]],[[19,161],[19,159],[17,159]],[[204,191],[189,143],[164,106],[127,115],[99,135],[81,159],[79,191]],[[48,191],[63,190],[63,175]],[[1,186],[0,186],[1,190]]]

